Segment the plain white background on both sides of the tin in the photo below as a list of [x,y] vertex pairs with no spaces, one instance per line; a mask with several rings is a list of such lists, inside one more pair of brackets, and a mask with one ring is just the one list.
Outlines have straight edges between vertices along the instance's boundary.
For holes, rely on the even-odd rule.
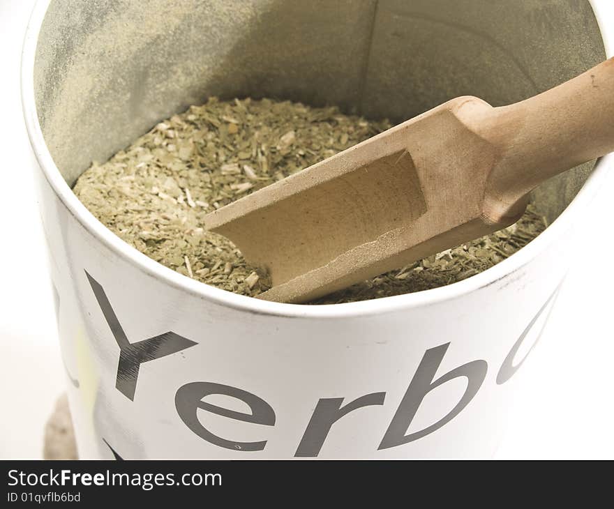
[[[612,0],[599,1],[614,11]],[[0,458],[40,457],[43,426],[64,383],[20,104],[32,4],[0,0]],[[614,459],[614,275],[607,272],[614,264],[614,175],[587,220],[585,251],[521,368],[527,390],[510,411],[497,458]]]

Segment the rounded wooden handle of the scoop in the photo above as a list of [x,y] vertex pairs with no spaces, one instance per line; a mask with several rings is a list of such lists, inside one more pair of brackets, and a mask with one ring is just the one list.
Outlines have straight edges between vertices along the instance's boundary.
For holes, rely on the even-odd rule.
[[614,57],[537,96],[493,108],[480,134],[498,149],[486,195],[509,208],[548,178],[614,151]]

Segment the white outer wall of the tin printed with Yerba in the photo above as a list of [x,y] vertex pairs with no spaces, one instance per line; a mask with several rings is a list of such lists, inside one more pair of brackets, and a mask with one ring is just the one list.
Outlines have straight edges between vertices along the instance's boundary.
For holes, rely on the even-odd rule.
[[[315,439],[311,443],[306,439],[301,455],[491,455],[518,390],[519,376],[514,367],[505,367],[506,358],[512,351],[511,365],[517,366],[536,341],[555,300],[551,296],[569,264],[562,255],[567,252],[564,243],[573,238],[561,236],[559,243],[518,271],[456,298],[357,317],[280,317],[207,301],[138,270],[91,236],[38,175],[81,457],[112,458],[114,453],[126,459],[293,457],[318,402],[322,417],[311,428],[317,431],[308,434]],[[94,288],[99,288],[98,298]],[[189,342],[167,335],[166,341],[153,347],[142,344],[144,354],[133,354],[133,360],[145,359],[138,372],[130,362],[128,369],[120,370],[116,337],[121,333],[117,326],[112,332],[103,314],[98,299],[105,297],[100,289],[130,344],[169,332]],[[108,308],[106,312],[111,317]],[[527,327],[530,330],[523,337]],[[522,345],[514,357],[519,338]],[[182,349],[164,355],[165,347]],[[443,354],[438,367],[435,354]],[[472,363],[470,383],[479,383],[479,372],[488,367],[477,393],[449,423],[417,440],[378,450],[421,362],[420,373],[426,373],[425,363],[436,369],[433,381]],[[122,390],[116,388],[118,371]],[[468,386],[467,373],[461,368],[463,376],[442,383],[424,397],[412,423],[407,422],[408,434],[433,425],[454,409]],[[499,382],[509,379],[497,383],[497,375]],[[424,381],[425,376],[420,379]],[[428,377],[426,383],[430,381]],[[210,443],[188,428],[176,408],[177,391],[193,382],[223,384],[262,398],[274,411],[274,425],[194,408],[205,429],[234,446]],[[425,392],[414,388],[410,399],[419,400]],[[369,398],[369,406],[339,418],[328,433],[321,429],[331,415],[324,411],[331,399],[343,398],[343,407],[374,393],[380,394]],[[236,392],[230,394],[211,395],[207,401],[251,413],[245,402],[232,395]],[[266,441],[263,450],[237,448],[239,442],[260,441]]]

